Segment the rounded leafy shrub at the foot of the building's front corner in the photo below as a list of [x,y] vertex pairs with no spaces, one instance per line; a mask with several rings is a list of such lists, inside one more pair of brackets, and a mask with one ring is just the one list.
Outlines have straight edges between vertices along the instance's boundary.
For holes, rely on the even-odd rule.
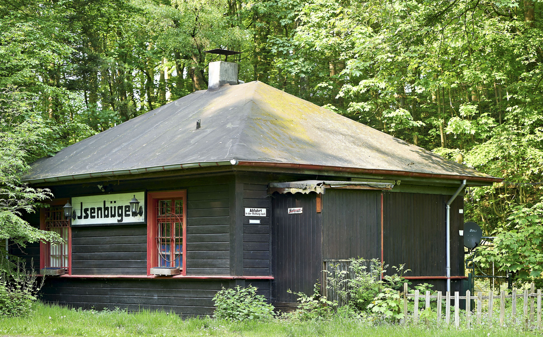
[[261,320],[275,315],[274,306],[266,303],[266,297],[256,294],[256,287],[226,289],[223,287],[213,297],[214,317],[231,321]]

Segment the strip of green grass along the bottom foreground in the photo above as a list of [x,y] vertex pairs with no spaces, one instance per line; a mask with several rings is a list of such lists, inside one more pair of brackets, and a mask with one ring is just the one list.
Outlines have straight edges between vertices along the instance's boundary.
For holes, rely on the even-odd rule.
[[266,322],[227,322],[210,317],[181,319],[165,311],[127,313],[126,311],[75,310],[38,304],[28,317],[3,317],[0,335],[8,336],[538,336],[502,328],[425,328],[397,325],[371,326],[368,322],[334,316],[329,321],[299,322],[273,319]]

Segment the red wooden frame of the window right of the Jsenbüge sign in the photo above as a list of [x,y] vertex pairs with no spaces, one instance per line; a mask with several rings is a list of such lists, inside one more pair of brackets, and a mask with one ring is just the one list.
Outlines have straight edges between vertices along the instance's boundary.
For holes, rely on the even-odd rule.
[[[181,275],[187,275],[187,190],[147,192],[147,275],[151,275],[151,268],[159,264],[159,251],[156,244],[157,237],[157,208],[160,200],[182,199],[182,268]],[[174,206],[172,206],[174,207]]]

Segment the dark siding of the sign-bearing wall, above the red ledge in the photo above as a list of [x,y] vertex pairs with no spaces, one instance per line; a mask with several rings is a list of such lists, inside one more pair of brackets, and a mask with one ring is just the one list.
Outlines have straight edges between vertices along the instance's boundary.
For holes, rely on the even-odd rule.
[[[229,185],[233,175],[120,181],[113,193],[187,190],[187,275],[230,275]],[[107,185],[103,183],[102,185]],[[96,185],[52,188],[56,198],[100,194]],[[39,215],[24,217],[39,227]],[[72,228],[72,274],[146,275],[147,226]],[[39,244],[11,253],[39,266]]]

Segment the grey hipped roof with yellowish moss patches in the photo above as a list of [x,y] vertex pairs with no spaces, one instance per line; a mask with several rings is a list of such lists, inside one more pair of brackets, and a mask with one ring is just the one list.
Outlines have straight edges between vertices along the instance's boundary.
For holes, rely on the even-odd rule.
[[[186,163],[193,164],[181,165]],[[40,158],[24,180],[134,174],[205,163],[501,180],[259,81],[189,94]]]

